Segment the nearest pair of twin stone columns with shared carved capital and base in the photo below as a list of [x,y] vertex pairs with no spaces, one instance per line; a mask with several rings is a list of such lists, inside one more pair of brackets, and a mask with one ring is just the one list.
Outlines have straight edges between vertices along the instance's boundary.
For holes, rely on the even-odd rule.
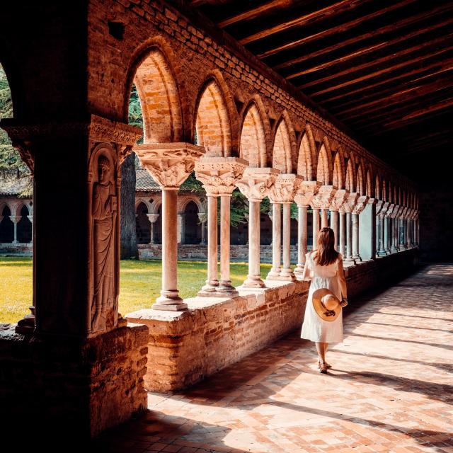
[[[208,276],[198,296],[235,297],[230,280],[230,200],[247,161],[237,157],[205,156],[195,164],[195,176],[207,194]],[[217,197],[220,197],[220,282],[217,280]]]

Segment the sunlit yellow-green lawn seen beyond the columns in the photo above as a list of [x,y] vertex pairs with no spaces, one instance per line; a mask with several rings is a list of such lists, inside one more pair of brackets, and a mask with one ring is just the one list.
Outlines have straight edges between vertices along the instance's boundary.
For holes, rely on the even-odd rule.
[[[207,263],[180,261],[178,286],[181,297],[193,297],[205,284]],[[270,264],[261,265],[264,277]],[[241,285],[247,274],[247,264],[231,263],[231,281]],[[161,287],[160,261],[122,260],[120,270],[120,313],[151,306]],[[0,322],[14,323],[28,313],[32,304],[31,258],[0,257]]]

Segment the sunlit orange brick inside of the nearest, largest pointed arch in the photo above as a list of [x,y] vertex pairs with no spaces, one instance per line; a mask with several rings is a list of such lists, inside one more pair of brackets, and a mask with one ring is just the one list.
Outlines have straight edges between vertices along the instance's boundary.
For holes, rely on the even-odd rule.
[[[145,143],[180,142],[183,139],[183,110],[180,84],[158,38],[137,57],[132,65],[132,81],[137,86],[142,106]],[[175,60],[175,57],[171,58]],[[178,83],[177,83],[178,81]],[[129,96],[125,96],[129,101]]]

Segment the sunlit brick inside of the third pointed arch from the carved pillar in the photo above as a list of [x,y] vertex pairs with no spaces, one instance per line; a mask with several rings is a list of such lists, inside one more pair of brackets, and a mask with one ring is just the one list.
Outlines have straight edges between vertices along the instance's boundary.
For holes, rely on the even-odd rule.
[[[270,127],[269,127],[270,132]],[[267,166],[266,137],[263,116],[255,101],[244,110],[241,125],[239,155],[248,161],[251,167]]]

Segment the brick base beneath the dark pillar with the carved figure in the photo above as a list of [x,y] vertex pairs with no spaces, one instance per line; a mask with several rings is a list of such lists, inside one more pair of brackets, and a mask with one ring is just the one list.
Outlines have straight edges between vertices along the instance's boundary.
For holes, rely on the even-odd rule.
[[0,324],[0,401],[8,408],[2,422],[27,414],[36,428],[50,423],[88,438],[143,411],[148,335],[146,326],[130,323],[78,343],[23,336]]

